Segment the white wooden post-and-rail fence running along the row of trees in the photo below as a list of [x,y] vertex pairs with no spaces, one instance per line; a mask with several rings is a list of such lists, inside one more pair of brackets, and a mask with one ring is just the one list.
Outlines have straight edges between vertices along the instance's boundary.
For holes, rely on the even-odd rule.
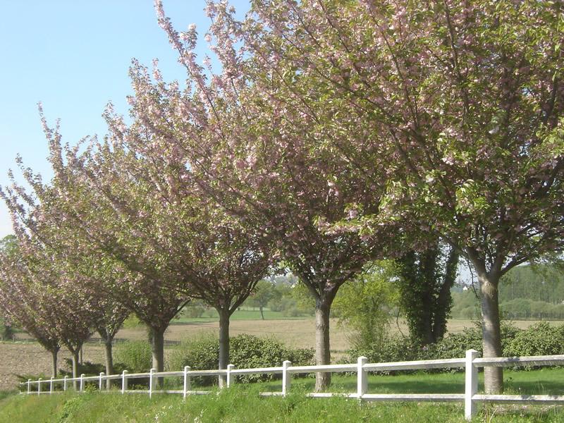
[[[37,381],[28,380],[27,394],[44,394],[61,392],[56,390],[56,384],[62,385],[62,391],[66,391],[71,382],[78,382],[78,390],[85,391],[85,384],[97,384],[99,391],[104,392],[104,381],[121,381],[121,393],[145,393],[152,397],[155,393],[176,393],[182,394],[183,398],[192,394],[207,394],[209,391],[194,391],[191,386],[193,376],[222,376],[226,378],[226,386],[233,384],[233,376],[245,374],[282,374],[281,392],[263,392],[262,396],[286,396],[290,391],[291,375],[297,373],[315,372],[356,372],[357,391],[355,393],[308,393],[312,398],[326,398],[331,396],[346,396],[348,398],[358,398],[363,401],[431,401],[431,402],[460,402],[465,404],[465,417],[472,419],[477,412],[477,404],[482,403],[529,403],[529,404],[560,404],[564,405],[564,396],[556,395],[489,395],[478,393],[478,369],[480,367],[510,367],[510,366],[550,366],[564,364],[564,355],[539,355],[532,357],[491,357],[479,358],[475,350],[467,350],[464,358],[451,358],[447,360],[422,360],[412,362],[388,362],[388,363],[368,363],[366,357],[358,357],[356,364],[328,364],[321,366],[292,366],[289,361],[282,363],[281,367],[262,367],[257,369],[235,369],[233,364],[229,364],[223,370],[191,370],[185,367],[180,372],[156,372],[151,369],[149,373],[130,374],[124,370],[122,374],[105,376],[88,376],[84,374],[78,378],[64,379],[39,379]],[[413,369],[439,369],[439,368],[465,368],[465,391],[464,393],[369,393],[368,392],[368,372],[383,372],[392,370],[413,370]],[[183,379],[183,389],[170,391],[156,389],[156,378],[180,377]],[[148,390],[128,389],[128,381],[132,379],[148,378]],[[32,386],[37,385],[37,391],[32,391]],[[22,391],[20,393],[26,393]]]

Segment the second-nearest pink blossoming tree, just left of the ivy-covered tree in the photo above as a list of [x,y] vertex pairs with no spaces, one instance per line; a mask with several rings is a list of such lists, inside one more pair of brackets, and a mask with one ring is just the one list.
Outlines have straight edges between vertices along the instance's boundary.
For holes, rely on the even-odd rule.
[[[357,209],[377,211],[374,197],[384,192],[386,176],[374,167],[369,177],[359,178],[360,169],[366,173],[368,168],[356,163],[364,156],[339,147],[355,137],[370,149],[370,135],[354,117],[347,128],[331,125],[331,111],[319,103],[323,92],[300,106],[272,95],[290,82],[297,92],[307,86],[295,73],[271,86],[257,74],[264,68],[252,73],[252,66],[245,67],[245,51],[236,50],[232,36],[239,30],[225,4],[209,3],[208,9],[214,24],[207,38],[216,40],[212,49],[221,74],[197,64],[195,27],[176,32],[156,4],[159,23],[187,71],[188,88],[166,93],[168,109],[162,102],[145,109],[166,113],[158,129],[186,152],[200,188],[243,226],[275,243],[283,262],[307,286],[316,304],[316,360],[329,364],[329,312],[338,288],[387,245],[384,230],[374,231],[377,243],[355,231],[330,230],[331,223],[353,218]],[[381,153],[385,159],[386,152]],[[351,203],[355,207],[345,212]],[[318,374],[317,389],[329,381],[329,374]]]

